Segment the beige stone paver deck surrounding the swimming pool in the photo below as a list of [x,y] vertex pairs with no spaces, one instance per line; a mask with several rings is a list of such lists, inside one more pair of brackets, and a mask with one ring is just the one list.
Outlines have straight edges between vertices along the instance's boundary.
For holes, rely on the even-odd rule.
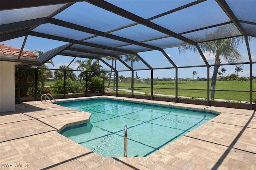
[[[60,129],[66,124],[75,124],[89,119],[89,113],[77,113],[74,112],[74,109],[56,106],[48,102],[24,102],[15,105],[16,111],[0,115],[1,169],[14,169],[10,166],[7,167],[8,163],[27,164],[28,167],[25,169],[33,170],[49,168],[60,170],[256,169],[255,111],[124,97],[101,96],[100,98],[102,97],[177,107],[184,106],[218,111],[221,114],[145,158],[102,158],[62,136],[57,130],[44,131],[52,129],[52,127]],[[84,97],[84,99],[89,98],[98,97]],[[57,103],[62,100],[70,99],[59,99]],[[20,122],[28,118],[22,113],[34,117],[33,120]],[[40,119],[40,117],[44,118]],[[40,119],[43,123],[36,119]],[[29,136],[28,134],[33,135]]]

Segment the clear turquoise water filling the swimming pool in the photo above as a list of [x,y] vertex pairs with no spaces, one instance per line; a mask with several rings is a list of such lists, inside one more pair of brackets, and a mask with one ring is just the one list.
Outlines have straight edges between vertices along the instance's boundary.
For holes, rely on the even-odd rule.
[[66,128],[60,133],[104,157],[124,156],[124,125],[128,127],[128,157],[148,156],[217,116],[113,99],[58,105],[92,113],[88,124]]

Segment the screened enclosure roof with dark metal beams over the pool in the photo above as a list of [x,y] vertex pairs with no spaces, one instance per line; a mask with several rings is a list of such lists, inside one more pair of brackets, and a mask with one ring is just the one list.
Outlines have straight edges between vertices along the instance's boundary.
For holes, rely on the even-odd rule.
[[[1,0],[1,42],[37,36],[65,42],[38,59],[44,63],[56,55],[100,59],[158,50],[173,68],[166,48],[193,44],[209,66],[198,43],[244,36],[256,37],[255,0],[127,0],[127,1],[6,1]],[[215,34],[222,26],[234,26],[236,34]],[[10,44],[11,45],[11,44]],[[127,69],[129,64],[119,59]],[[148,69],[152,68],[140,57]]]

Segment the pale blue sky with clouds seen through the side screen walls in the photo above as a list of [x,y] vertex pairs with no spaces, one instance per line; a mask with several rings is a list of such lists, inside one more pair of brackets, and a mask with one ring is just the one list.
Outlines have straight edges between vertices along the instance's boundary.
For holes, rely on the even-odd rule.
[[[7,41],[1,42],[1,43],[5,44],[5,45],[10,45],[12,47],[21,48],[23,41],[24,41],[24,37],[20,37],[20,38],[15,38],[12,40],[7,40]],[[44,39],[44,38],[28,36],[28,39],[24,46],[24,50],[31,51],[34,49],[38,49],[43,52],[46,52],[50,49],[54,49],[55,47],[64,45],[66,43],[67,42],[59,42],[59,41],[55,41],[55,40],[48,40],[48,39]],[[256,61],[256,48],[255,48],[256,40],[254,39],[254,40],[250,41],[249,44],[250,44],[250,51],[251,51],[251,55],[252,55],[252,61]],[[242,45],[238,50],[243,55],[243,61],[248,62],[249,57],[248,57],[246,45],[245,44]],[[178,67],[190,66],[190,65],[191,66],[204,65],[204,61],[200,57],[199,53],[194,53],[192,51],[186,51],[185,53],[179,53],[178,47],[164,49],[164,51],[168,54],[170,59],[172,59],[172,61],[174,61],[174,63]],[[214,60],[215,60],[214,55],[209,55],[205,51],[203,51],[203,52],[204,52],[204,55],[205,55],[208,63],[213,64]],[[162,68],[162,67],[172,67],[171,63],[166,59],[166,57],[160,51],[156,51],[156,50],[146,51],[146,52],[141,52],[138,54],[149,65],[151,65],[151,67],[154,68],[154,71],[153,71],[154,78],[175,77],[175,69],[157,69],[157,68]],[[74,57],[57,55],[56,57],[53,58],[54,66],[52,66],[49,63],[46,63],[46,65],[48,66],[48,68],[58,69],[61,65],[66,65],[66,66],[69,65],[73,58]],[[80,59],[86,60],[83,58],[80,58]],[[76,70],[77,66],[78,66],[78,63],[75,63],[75,61],[73,61],[70,64],[70,67],[73,68],[74,70]],[[107,62],[110,65],[112,64],[111,61],[107,61]],[[226,62],[224,60],[222,60],[222,63],[226,63]],[[110,68],[108,66],[106,66],[104,63],[101,62],[100,64],[104,66],[103,68],[106,68],[107,70],[110,71]],[[141,61],[134,62],[133,65],[134,65],[134,69],[139,69],[139,68],[146,69],[147,68],[146,65],[141,63]],[[227,71],[225,73],[223,73],[223,76],[227,76],[227,75],[235,73],[236,66],[237,65],[220,66],[219,71],[221,68],[225,68]],[[125,66],[122,65],[122,63],[120,63],[120,61],[117,62],[116,68],[119,70],[127,70],[125,68]],[[239,77],[242,77],[242,76],[250,77],[250,65],[249,64],[242,65],[242,68],[243,68],[243,72],[238,73],[238,76]],[[199,77],[199,78],[207,77],[207,67],[180,68],[180,69],[178,69],[178,77],[179,78],[180,77],[191,78],[191,77],[193,77],[193,74],[192,74],[193,71],[196,71],[196,75],[194,75],[194,77]],[[136,71],[136,72],[137,72],[138,77],[140,77],[140,78],[151,77],[150,70]],[[210,77],[212,76],[212,72],[213,72],[213,67],[210,68]],[[124,77],[131,77],[131,72],[130,71],[121,71],[120,73],[118,73],[118,75],[123,75]],[[256,64],[253,64],[252,75],[256,76]]]

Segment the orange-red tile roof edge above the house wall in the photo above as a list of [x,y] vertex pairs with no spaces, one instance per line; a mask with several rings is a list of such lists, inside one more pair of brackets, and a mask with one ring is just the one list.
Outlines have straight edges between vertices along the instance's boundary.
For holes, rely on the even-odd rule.
[[[0,55],[18,57],[20,54],[20,49],[14,48],[8,45],[0,44]],[[26,58],[36,58],[36,53],[31,53],[28,51],[22,51],[22,57]]]

